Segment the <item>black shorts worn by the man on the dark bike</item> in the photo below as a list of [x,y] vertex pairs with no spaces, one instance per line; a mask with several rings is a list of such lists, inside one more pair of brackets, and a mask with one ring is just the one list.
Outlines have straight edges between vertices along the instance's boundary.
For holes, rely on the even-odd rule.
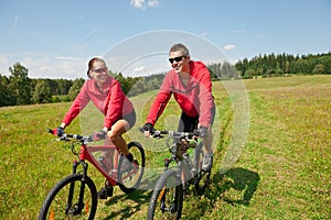
[[[215,119],[215,113],[216,113],[215,106],[213,106],[211,111],[212,111],[212,119],[211,119],[210,124],[213,125],[214,119]],[[194,129],[197,129],[197,124],[199,124],[199,116],[189,117],[186,113],[184,113],[182,111],[182,114],[181,114],[181,118],[179,121],[178,131],[179,132],[192,132],[192,131],[194,131]]]

